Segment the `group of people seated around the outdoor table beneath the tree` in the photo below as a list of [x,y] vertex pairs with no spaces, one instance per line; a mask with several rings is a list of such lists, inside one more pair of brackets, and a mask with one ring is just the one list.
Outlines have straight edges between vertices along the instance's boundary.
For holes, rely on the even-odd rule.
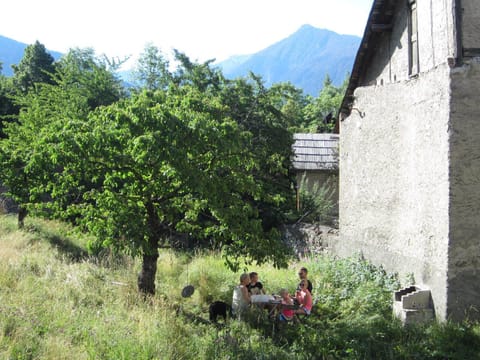
[[[287,289],[281,289],[279,292],[281,298],[281,313],[279,320],[289,321],[295,314],[310,315],[313,305],[312,282],[308,279],[308,270],[305,267],[300,268],[298,272],[300,283],[292,296]],[[252,297],[255,295],[264,295],[263,284],[258,281],[258,274],[251,272],[240,275],[240,284],[235,286],[232,297],[232,312],[235,316],[241,317],[241,314],[247,311],[252,303]]]

